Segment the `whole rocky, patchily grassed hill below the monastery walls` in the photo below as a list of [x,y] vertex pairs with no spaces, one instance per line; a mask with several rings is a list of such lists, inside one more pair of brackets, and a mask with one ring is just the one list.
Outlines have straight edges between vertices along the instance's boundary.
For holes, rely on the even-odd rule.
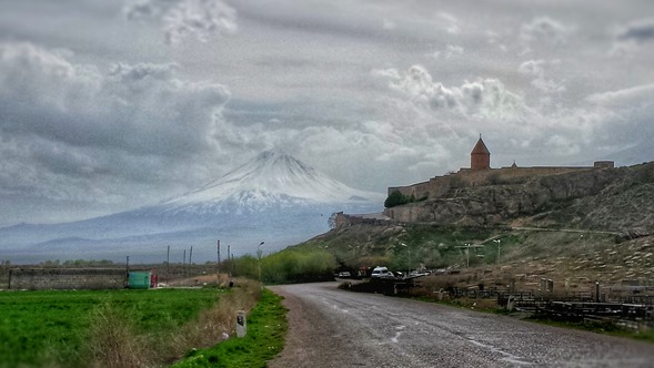
[[386,214],[394,218],[345,221],[298,247],[330,249],[350,269],[457,269],[469,285],[654,286],[654,163],[490,177]]

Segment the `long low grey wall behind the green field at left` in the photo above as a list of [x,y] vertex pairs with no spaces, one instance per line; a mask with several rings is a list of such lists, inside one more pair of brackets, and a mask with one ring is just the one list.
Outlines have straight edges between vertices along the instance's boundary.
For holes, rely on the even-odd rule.
[[10,289],[121,289],[125,286],[122,268],[12,268]]

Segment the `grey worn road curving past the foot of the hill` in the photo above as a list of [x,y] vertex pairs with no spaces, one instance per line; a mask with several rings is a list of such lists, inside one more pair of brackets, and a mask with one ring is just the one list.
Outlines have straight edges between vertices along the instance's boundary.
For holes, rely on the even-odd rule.
[[269,367],[654,367],[652,344],[336,286],[270,287],[290,330]]

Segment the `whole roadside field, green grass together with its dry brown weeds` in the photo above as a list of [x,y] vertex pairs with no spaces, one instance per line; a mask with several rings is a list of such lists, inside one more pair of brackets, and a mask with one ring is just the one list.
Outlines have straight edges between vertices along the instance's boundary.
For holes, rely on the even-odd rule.
[[235,331],[261,296],[232,289],[0,292],[0,367],[167,366]]

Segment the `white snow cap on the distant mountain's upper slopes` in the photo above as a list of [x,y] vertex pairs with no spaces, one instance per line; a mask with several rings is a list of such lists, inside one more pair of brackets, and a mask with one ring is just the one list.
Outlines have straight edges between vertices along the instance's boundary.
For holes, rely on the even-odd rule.
[[281,151],[265,151],[223,177],[164,206],[211,206],[217,203],[255,211],[273,204],[346,203],[381,200],[381,194],[358,191],[334,181]]

